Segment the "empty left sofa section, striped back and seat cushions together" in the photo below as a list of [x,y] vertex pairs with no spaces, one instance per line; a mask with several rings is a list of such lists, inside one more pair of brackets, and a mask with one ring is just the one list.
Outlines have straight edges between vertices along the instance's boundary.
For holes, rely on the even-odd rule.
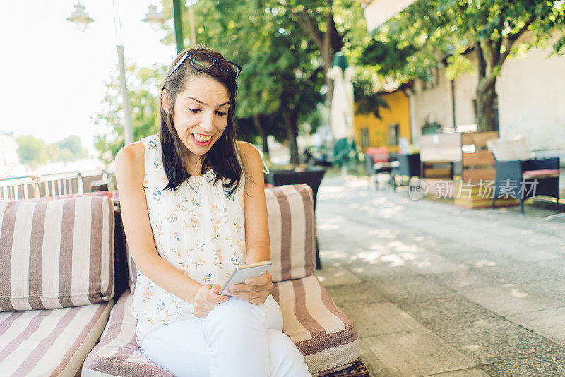
[[0,201],[0,375],[75,376],[114,306],[107,196]]

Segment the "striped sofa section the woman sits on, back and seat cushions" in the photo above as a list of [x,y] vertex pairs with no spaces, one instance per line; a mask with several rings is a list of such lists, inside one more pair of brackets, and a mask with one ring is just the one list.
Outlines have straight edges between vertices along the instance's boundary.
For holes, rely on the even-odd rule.
[[[357,357],[353,323],[333,303],[314,273],[314,205],[306,185],[266,188],[272,294],[283,311],[286,333],[297,345],[314,376],[367,376]],[[83,376],[171,376],[149,361],[136,345],[131,301],[135,263],[127,254],[129,288],[110,314],[100,343],[90,352]],[[353,364],[355,364],[354,367]],[[341,371],[341,372],[338,372]]]

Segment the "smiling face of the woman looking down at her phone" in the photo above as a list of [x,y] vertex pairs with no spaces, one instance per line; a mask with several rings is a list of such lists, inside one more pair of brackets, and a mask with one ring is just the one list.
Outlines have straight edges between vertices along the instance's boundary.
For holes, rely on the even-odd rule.
[[230,93],[206,76],[190,78],[174,103],[173,123],[191,157],[205,155],[227,126]]

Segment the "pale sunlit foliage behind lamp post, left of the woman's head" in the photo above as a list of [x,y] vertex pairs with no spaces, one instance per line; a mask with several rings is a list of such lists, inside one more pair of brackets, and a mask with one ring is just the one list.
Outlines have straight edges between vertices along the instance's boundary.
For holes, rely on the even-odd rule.
[[[126,85],[131,104],[133,140],[159,131],[160,86],[165,73],[166,67],[160,64],[139,67],[126,61]],[[92,119],[103,130],[95,133],[95,148],[100,152],[100,160],[109,164],[125,145],[124,111],[118,70],[105,85],[106,96],[101,102],[102,110]]]

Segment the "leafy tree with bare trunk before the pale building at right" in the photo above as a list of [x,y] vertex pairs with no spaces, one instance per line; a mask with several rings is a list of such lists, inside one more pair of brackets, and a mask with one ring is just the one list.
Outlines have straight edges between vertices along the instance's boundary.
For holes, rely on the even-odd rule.
[[[477,51],[477,128],[492,130],[496,78],[504,62],[521,50],[547,43],[552,32],[563,28],[564,1],[547,0],[419,0],[377,32],[370,49],[379,54],[391,43],[398,54],[410,54],[392,76],[426,78],[438,57],[447,59],[448,71],[465,71],[463,53]],[[530,31],[530,42],[518,43]],[[565,37],[554,45],[565,52]],[[384,61],[385,59],[383,59]]]

